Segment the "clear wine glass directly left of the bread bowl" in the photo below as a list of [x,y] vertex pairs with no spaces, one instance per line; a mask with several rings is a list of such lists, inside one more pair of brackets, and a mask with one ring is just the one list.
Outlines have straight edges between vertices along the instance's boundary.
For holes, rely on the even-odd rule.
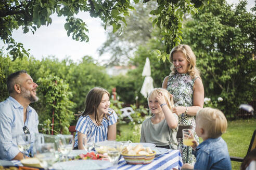
[[117,169],[119,157],[121,154],[121,143],[113,140],[111,143],[108,143],[107,153],[109,161],[112,162],[115,169]]

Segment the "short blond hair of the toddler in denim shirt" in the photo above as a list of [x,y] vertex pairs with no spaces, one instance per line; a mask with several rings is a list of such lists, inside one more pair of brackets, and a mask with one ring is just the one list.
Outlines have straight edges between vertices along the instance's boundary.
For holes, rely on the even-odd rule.
[[227,119],[219,109],[202,108],[198,110],[196,119],[209,138],[220,137],[227,130]]

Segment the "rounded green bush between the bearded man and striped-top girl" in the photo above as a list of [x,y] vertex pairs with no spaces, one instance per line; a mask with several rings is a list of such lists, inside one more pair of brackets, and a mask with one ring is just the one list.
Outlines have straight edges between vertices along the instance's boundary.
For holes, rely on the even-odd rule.
[[[40,88],[37,90],[40,100],[33,105],[37,114],[40,115],[39,122],[50,120],[54,123],[54,134],[68,134],[68,127],[74,119],[72,109],[75,106],[75,103],[70,101],[72,92],[68,84],[63,79],[52,75],[39,78],[37,83],[40,84]],[[44,114],[45,112],[47,114]]]

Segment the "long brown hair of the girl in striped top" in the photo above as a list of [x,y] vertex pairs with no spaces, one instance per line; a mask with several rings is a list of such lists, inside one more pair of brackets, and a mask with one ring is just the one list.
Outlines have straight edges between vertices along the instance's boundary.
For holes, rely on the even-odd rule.
[[[101,122],[98,116],[98,107],[105,93],[107,93],[110,98],[109,92],[103,88],[95,87],[92,90],[90,90],[86,96],[85,110],[82,112],[82,116],[94,114],[96,123],[101,125]],[[108,117],[106,114],[104,114],[104,117],[108,120]]]

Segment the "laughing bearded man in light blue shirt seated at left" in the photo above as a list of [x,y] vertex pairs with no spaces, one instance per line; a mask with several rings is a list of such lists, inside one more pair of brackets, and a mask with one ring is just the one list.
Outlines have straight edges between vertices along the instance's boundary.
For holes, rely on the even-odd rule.
[[0,103],[0,159],[21,160],[24,155],[17,147],[16,135],[39,133],[38,115],[29,106],[39,100],[36,96],[37,84],[25,70],[10,74],[6,84],[9,97]]

